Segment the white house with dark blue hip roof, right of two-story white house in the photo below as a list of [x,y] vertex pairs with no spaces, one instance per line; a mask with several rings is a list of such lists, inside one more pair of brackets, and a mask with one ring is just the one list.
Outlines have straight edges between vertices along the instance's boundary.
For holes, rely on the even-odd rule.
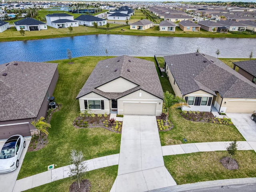
[[80,15],[75,18],[74,21],[78,22],[79,25],[84,26],[94,26],[94,22],[98,24],[98,26],[106,25],[107,21],[102,18],[98,18],[92,15]]

